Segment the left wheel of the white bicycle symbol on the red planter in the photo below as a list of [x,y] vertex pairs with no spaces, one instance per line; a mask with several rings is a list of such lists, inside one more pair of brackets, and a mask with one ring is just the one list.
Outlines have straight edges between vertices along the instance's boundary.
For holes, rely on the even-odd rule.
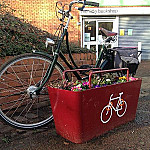
[[112,107],[111,105],[107,105],[101,111],[101,122],[107,123],[111,119],[112,116]]

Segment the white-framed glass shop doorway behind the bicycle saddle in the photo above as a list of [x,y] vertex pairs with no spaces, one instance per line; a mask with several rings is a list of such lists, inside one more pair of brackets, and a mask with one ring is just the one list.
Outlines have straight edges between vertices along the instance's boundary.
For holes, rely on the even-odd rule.
[[[83,22],[83,47],[96,50],[96,57],[102,46],[102,35],[100,27],[106,30],[118,32],[118,18],[114,19],[84,19]],[[117,47],[118,42],[113,43],[110,47]]]

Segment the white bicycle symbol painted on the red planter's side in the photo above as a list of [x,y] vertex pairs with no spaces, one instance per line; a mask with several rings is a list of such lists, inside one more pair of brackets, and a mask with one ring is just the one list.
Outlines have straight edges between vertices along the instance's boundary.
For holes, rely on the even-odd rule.
[[[101,121],[103,123],[109,122],[112,117],[113,110],[117,113],[118,117],[122,117],[127,110],[127,102],[121,98],[123,92],[119,93],[118,97],[112,98],[113,94],[111,94],[109,103],[106,105],[101,111]],[[113,106],[114,100],[118,99],[116,107]]]

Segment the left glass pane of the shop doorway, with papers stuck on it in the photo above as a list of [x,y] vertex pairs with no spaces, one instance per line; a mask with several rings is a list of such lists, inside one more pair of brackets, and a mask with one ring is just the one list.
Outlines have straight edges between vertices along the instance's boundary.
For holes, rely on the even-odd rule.
[[84,41],[96,41],[96,21],[85,21]]

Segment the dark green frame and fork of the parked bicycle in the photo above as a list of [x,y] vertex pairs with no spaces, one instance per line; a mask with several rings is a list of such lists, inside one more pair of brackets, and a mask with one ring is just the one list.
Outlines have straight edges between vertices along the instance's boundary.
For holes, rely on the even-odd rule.
[[[68,30],[69,22],[70,22],[71,19],[72,19],[72,15],[70,14],[69,17],[68,17],[68,20],[67,20],[67,23],[66,23],[65,27],[63,27],[63,24],[61,24],[62,27],[63,27],[63,32],[62,32],[62,34],[60,36],[60,40],[58,41],[57,48],[56,48],[56,50],[54,52],[53,61],[50,64],[50,66],[48,67],[47,72],[46,72],[44,78],[40,82],[42,84],[39,85],[39,87],[34,91],[36,94],[38,94],[40,92],[40,90],[42,89],[42,87],[45,85],[45,83],[51,77],[51,74],[52,74],[54,66],[55,66],[55,64],[56,64],[56,62],[58,60],[58,57],[60,57],[65,62],[65,64],[68,66],[68,68],[70,70],[78,69],[78,66],[75,63],[75,61],[74,61],[74,59],[72,57],[71,51],[69,49],[69,40],[68,40],[68,31],[67,30]],[[71,62],[73,64],[73,66],[69,63],[69,61],[66,59],[66,57],[63,55],[62,51],[60,50],[61,44],[62,44],[62,42],[63,42],[63,40],[64,40],[65,37],[66,37],[67,52],[69,54],[69,58],[70,58],[70,60],[71,60]],[[101,64],[101,61],[102,61],[102,59],[104,57],[104,53],[106,52],[106,50],[107,50],[107,48],[103,44],[103,48],[102,48],[102,50],[101,50],[101,52],[100,52],[100,54],[98,56],[98,59],[96,61],[96,65],[94,66],[94,68],[103,68],[105,66],[105,64],[108,62],[108,60],[105,59],[105,61]],[[51,57],[49,54],[44,53],[44,52],[37,52],[37,51],[35,51],[35,53],[40,53],[42,55],[48,56],[49,58]],[[81,76],[79,75],[79,73],[77,73],[77,72],[73,72],[73,73],[77,77],[78,80],[82,79]]]

